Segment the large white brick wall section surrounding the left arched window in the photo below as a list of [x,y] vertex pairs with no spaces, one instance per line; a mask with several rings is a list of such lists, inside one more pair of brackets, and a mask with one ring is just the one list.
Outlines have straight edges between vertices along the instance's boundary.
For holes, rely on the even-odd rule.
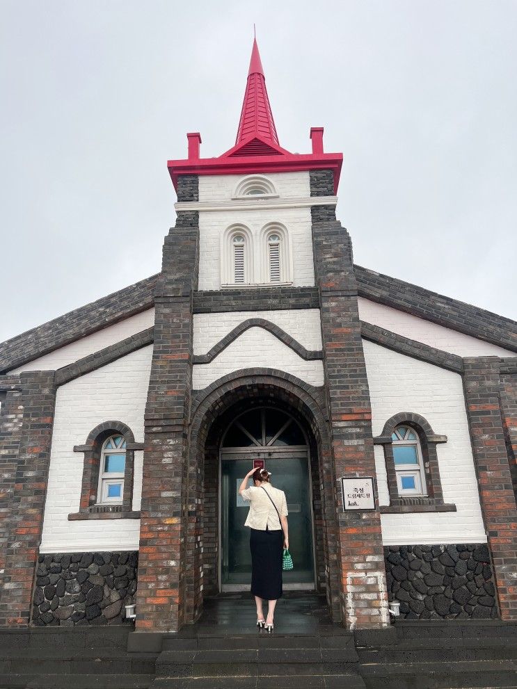
[[[118,359],[58,388],[52,435],[49,486],[43,521],[42,553],[137,550],[140,520],[68,521],[79,511],[83,445],[104,421],[122,421],[143,442],[143,415],[148,394],[152,346]],[[135,453],[134,501],[141,498],[143,452]]]

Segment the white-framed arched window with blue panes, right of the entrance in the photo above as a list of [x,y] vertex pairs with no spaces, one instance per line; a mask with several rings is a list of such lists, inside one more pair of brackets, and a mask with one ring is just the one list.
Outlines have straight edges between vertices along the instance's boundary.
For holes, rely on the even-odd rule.
[[427,495],[422,448],[417,432],[409,425],[398,425],[391,438],[399,495]]

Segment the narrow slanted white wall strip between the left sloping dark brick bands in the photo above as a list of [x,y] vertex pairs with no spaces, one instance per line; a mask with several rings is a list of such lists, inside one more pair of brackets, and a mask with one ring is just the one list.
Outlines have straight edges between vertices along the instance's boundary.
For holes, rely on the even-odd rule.
[[54,371],[56,368],[73,364],[83,357],[94,352],[99,352],[104,347],[109,347],[116,342],[120,342],[137,332],[147,330],[148,327],[154,325],[154,309],[142,311],[141,314],[129,316],[120,323],[109,325],[108,327],[94,332],[88,337],[83,337],[80,340],[60,347],[54,352],[50,352],[39,359],[34,359],[24,366],[14,368],[10,373],[19,373],[20,371]]

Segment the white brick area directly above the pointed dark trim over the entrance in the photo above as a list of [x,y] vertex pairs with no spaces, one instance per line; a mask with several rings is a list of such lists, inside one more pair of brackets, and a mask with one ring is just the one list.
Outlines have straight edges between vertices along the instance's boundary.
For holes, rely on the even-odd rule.
[[283,309],[282,311],[229,311],[223,314],[194,315],[194,354],[206,354],[239,323],[248,318],[264,318],[308,350],[321,349],[319,309]]

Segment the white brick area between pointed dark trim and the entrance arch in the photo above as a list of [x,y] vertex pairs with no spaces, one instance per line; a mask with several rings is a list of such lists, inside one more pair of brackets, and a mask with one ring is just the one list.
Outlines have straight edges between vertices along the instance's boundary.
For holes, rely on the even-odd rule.
[[203,389],[223,375],[241,368],[277,368],[296,375],[311,385],[324,382],[321,361],[306,362],[262,327],[251,327],[221,352],[210,364],[193,367],[193,387]]

